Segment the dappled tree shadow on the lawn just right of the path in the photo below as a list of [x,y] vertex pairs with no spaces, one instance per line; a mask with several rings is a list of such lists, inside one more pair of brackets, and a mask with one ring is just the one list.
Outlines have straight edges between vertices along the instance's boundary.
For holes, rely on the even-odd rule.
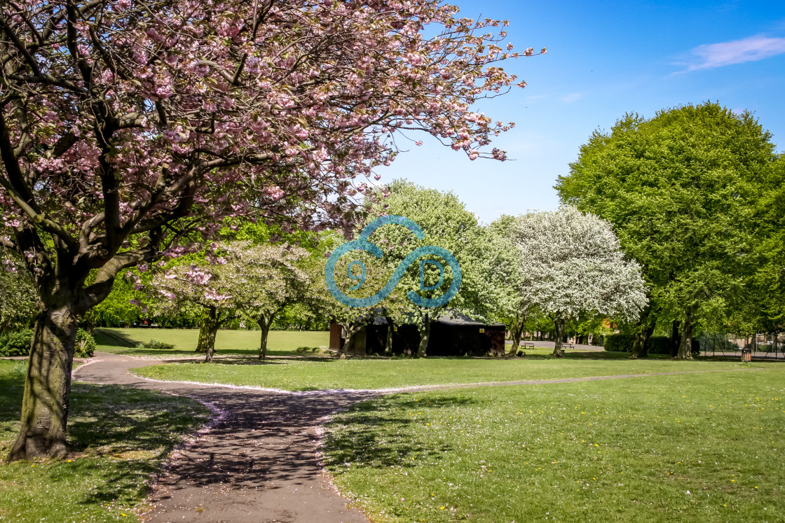
[[[440,439],[431,442],[413,441],[403,434],[414,423],[429,423],[428,413],[440,409],[476,405],[473,398],[448,396],[415,401],[408,394],[392,394],[354,405],[348,416],[340,416],[327,423],[325,464],[339,472],[351,466],[386,468],[418,467],[423,461],[438,460],[444,452],[453,450],[450,443]],[[396,410],[392,410],[392,409]],[[418,410],[419,409],[419,410]],[[414,419],[409,412],[423,412]],[[435,427],[434,427],[435,428]]]

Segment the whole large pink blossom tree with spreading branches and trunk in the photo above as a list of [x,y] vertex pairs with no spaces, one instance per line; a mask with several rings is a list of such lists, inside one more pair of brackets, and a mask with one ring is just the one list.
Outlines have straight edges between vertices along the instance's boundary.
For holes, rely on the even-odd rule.
[[188,252],[227,216],[352,227],[362,180],[400,133],[503,160],[485,149],[511,124],[470,106],[516,83],[497,63],[517,53],[487,32],[501,22],[456,13],[438,0],[3,2],[0,243],[24,256],[46,311],[9,459],[66,452],[79,319],[123,268]]

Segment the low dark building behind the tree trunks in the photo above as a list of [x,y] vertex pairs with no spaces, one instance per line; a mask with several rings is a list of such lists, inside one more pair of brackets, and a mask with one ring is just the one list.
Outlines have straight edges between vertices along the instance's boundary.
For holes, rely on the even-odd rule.
[[[352,336],[346,354],[383,354],[387,340],[387,320],[378,316]],[[431,322],[426,354],[429,356],[503,355],[505,326],[503,323],[474,321],[466,314],[449,313]],[[345,343],[341,325],[330,323],[330,349],[340,350]],[[415,354],[420,344],[417,325],[394,325],[393,354]]]

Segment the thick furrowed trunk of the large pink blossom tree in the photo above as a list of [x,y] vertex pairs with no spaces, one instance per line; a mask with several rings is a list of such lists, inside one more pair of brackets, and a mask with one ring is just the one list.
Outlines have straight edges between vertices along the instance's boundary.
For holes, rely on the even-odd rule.
[[22,400],[22,427],[8,461],[65,455],[71,365],[79,321],[72,304],[38,314]]

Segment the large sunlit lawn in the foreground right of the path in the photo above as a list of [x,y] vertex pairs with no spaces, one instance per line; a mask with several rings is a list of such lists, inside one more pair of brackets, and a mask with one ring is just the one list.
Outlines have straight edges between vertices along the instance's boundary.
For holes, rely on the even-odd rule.
[[785,521],[763,366],[384,396],[327,425],[327,469],[372,521]]

